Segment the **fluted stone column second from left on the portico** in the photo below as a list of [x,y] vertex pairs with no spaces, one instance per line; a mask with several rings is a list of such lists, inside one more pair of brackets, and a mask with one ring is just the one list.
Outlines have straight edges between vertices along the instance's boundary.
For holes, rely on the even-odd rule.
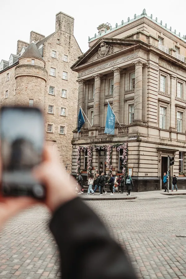
[[94,76],[94,116],[93,126],[100,126],[100,87],[102,75],[97,74]]

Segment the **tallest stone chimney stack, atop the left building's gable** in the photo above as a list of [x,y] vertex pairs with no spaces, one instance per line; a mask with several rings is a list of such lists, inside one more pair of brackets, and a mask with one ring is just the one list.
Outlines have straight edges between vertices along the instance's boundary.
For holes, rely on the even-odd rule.
[[55,32],[62,30],[73,35],[74,31],[74,18],[59,12],[55,15]]

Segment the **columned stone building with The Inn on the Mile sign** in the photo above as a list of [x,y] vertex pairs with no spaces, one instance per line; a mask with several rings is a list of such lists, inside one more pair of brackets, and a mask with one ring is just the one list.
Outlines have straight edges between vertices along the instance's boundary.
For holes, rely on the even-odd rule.
[[[89,50],[72,67],[78,73],[78,110],[81,106],[92,124],[73,132],[72,173],[79,153],[81,171],[91,164],[92,172],[108,173],[110,153],[103,144],[127,143],[128,158],[114,146],[111,165],[116,174],[128,159],[135,191],[162,189],[168,156],[175,157],[171,175],[185,187],[179,173],[186,172],[186,36],[158,23],[145,9],[114,28],[101,24],[97,29]],[[107,100],[123,123],[116,122],[113,136],[104,134]],[[92,155],[78,151],[91,144],[97,144]]]

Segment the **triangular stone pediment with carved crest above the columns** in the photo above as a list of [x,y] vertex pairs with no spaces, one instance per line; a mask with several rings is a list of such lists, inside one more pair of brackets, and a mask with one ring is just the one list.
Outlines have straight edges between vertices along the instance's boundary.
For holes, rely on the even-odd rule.
[[75,64],[73,64],[71,69],[103,59],[106,56],[116,54],[117,52],[137,43],[137,40],[131,39],[101,38],[97,43],[95,43],[95,45],[89,48],[89,50],[86,51],[86,53],[84,53]]

